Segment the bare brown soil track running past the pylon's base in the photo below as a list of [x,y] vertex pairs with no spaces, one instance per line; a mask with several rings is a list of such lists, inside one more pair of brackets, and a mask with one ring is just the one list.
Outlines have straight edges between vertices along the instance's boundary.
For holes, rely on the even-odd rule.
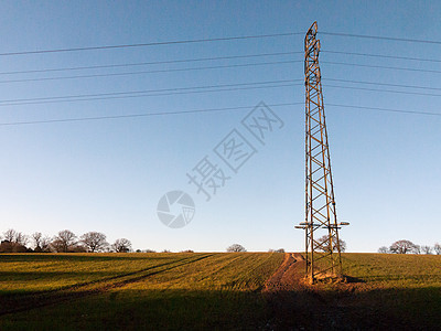
[[[345,281],[309,285],[305,260],[287,253],[279,269],[268,279],[262,295],[269,306],[265,330],[410,330],[400,317],[366,299],[365,282]],[[379,303],[379,306],[378,306]],[[424,328],[418,330],[426,330]],[[413,329],[415,330],[415,329]]]

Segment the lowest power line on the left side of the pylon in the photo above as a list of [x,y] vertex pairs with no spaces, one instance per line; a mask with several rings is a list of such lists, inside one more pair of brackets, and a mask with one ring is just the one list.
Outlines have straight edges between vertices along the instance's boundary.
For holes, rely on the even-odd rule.
[[[267,105],[267,106],[269,106],[269,107],[282,107],[282,106],[295,106],[295,105],[303,105],[303,103],[275,104],[275,105]],[[86,120],[122,119],[122,118],[135,118],[135,117],[165,116],[165,115],[215,113],[215,111],[227,111],[227,110],[237,110],[237,109],[252,109],[255,106],[240,106],[240,107],[228,107],[228,108],[193,109],[193,110],[182,110],[182,111],[158,111],[158,113],[128,114],[128,115],[115,115],[115,116],[97,116],[97,117],[77,117],[77,118],[13,121],[13,122],[0,122],[0,126],[20,126],[20,125],[35,125],[35,124],[51,124],[51,122],[86,121]]]

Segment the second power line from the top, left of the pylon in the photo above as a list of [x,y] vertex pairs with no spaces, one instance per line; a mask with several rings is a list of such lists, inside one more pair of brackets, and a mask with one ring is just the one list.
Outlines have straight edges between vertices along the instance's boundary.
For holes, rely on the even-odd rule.
[[262,57],[262,56],[280,56],[280,55],[293,55],[293,54],[303,54],[303,53],[304,52],[278,52],[278,53],[260,53],[260,54],[248,54],[248,55],[200,57],[200,58],[185,58],[185,60],[171,60],[171,61],[153,61],[153,62],[74,66],[74,67],[60,67],[60,68],[42,68],[42,70],[31,70],[31,71],[2,72],[2,73],[0,73],[0,75],[35,74],[35,73],[49,73],[49,72],[68,72],[68,71],[97,70],[97,68],[130,67],[130,66],[143,66],[143,65],[155,65],[155,64],[189,63],[189,62],[233,60],[233,58],[250,58],[250,57]]

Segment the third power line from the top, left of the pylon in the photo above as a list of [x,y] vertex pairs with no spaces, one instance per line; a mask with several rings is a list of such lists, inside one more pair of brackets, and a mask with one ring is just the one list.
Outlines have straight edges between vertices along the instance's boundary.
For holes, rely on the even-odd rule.
[[260,66],[260,65],[288,64],[288,63],[297,63],[297,62],[303,62],[303,60],[275,61],[275,62],[260,62],[260,63],[246,63],[246,64],[228,64],[228,65],[214,65],[214,66],[185,67],[185,68],[168,68],[168,70],[153,70],[153,71],[111,73],[111,74],[92,74],[92,75],[76,75],[76,76],[7,79],[7,81],[0,81],[0,83],[23,83],[23,82],[42,82],[42,81],[60,81],[60,79],[76,79],[76,78],[128,76],[128,75],[142,75],[142,74],[158,74],[158,73],[172,73],[172,72],[189,72],[189,71],[232,68],[232,67],[249,67],[249,66]]

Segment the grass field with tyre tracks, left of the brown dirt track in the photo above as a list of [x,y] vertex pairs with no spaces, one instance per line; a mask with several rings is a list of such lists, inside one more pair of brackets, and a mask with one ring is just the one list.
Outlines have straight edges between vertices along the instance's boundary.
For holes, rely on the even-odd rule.
[[252,253],[2,255],[0,312],[11,313],[0,317],[0,329],[258,327],[266,318],[260,290],[282,259]]

